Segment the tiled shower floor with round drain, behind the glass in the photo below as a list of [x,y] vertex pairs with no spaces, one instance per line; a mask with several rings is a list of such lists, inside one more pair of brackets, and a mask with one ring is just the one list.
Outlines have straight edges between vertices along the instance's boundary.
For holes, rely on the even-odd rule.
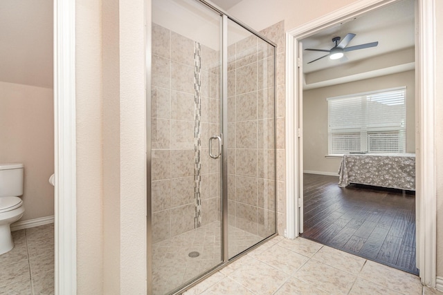
[[[263,238],[254,234],[229,227],[228,251],[236,255],[255,245]],[[221,263],[220,222],[212,222],[179,236],[152,245],[152,280],[154,295],[167,294]],[[191,251],[199,256],[190,258]]]

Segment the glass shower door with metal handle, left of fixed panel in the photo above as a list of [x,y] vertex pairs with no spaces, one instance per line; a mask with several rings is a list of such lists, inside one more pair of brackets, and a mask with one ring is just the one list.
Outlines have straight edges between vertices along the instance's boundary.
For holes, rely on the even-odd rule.
[[152,20],[152,294],[169,294],[222,262],[221,16],[153,0]]

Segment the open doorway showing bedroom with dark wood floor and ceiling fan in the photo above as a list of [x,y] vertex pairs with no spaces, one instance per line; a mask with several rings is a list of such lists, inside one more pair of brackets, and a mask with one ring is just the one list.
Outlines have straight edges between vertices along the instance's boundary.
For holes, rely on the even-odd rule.
[[[341,59],[314,51],[335,46],[334,37],[340,38],[337,48],[345,48]],[[418,274],[415,1],[399,1],[366,12],[301,42],[305,77],[302,236]],[[341,154],[349,153],[364,153],[347,155],[350,170],[346,173],[359,178],[352,182],[372,187],[338,185]],[[352,169],[357,163],[351,164],[352,160],[374,160],[372,167],[377,169],[370,175],[365,171],[368,166]],[[386,177],[380,165],[394,162],[410,173],[393,177],[391,183],[377,182]],[[363,171],[357,175],[356,169]],[[401,171],[395,173],[399,174]],[[402,183],[406,180],[408,184]]]

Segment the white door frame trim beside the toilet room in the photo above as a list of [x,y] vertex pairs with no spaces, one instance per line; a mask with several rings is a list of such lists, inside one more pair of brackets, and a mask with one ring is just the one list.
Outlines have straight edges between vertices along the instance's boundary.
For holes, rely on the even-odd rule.
[[53,1],[54,291],[77,294],[75,181],[75,0]]

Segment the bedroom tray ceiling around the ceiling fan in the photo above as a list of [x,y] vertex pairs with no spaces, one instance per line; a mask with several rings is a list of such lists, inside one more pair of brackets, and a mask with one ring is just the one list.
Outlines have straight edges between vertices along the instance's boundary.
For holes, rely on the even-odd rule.
[[[356,34],[356,36],[348,46],[379,41],[377,47],[350,51],[345,53],[345,57],[342,59],[332,60],[325,57],[311,64],[307,63],[327,53],[303,50],[302,69],[305,74],[305,89],[413,69],[415,56],[413,54],[415,44],[414,9],[414,0],[399,1],[302,39],[303,49],[327,50],[334,47],[333,37],[339,36],[343,39],[349,32]],[[385,61],[378,61],[380,57],[384,57]],[[395,60],[397,57],[399,60]],[[376,64],[378,64],[378,68],[375,68]],[[386,71],[383,71],[383,68],[386,68]],[[356,71],[359,71],[359,75],[356,75]],[[372,74],[361,75],[365,71],[372,72]],[[350,78],[351,74],[354,77]],[[329,82],[321,83],[328,79]]]

